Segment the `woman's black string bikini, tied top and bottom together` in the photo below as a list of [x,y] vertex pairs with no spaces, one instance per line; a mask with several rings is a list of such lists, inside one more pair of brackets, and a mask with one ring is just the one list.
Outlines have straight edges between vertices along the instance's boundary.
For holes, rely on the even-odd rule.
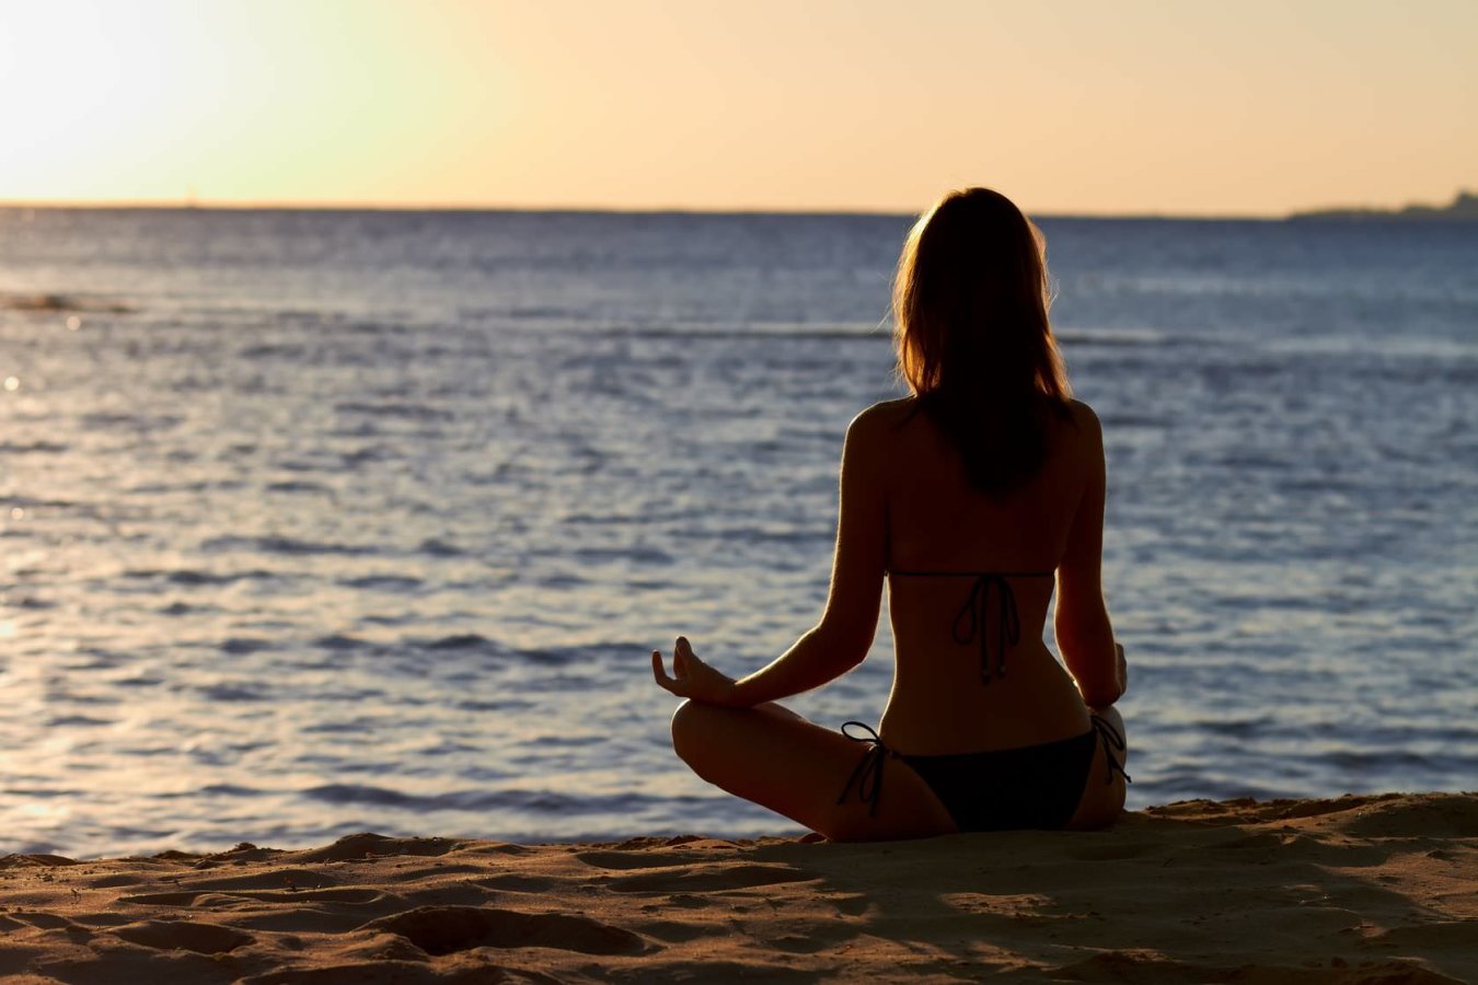
[[[989,685],[992,676],[1007,675],[1007,650],[1021,639],[1021,619],[1017,613],[1012,577],[1052,577],[1052,572],[891,572],[894,577],[974,577],[965,604],[959,607],[950,625],[950,636],[956,644],[978,645],[980,682]],[[990,613],[990,595],[998,598],[995,673],[992,675],[992,647],[986,632]],[[1126,781],[1123,762],[1114,758],[1114,750],[1123,753],[1123,735],[1107,721],[1089,715],[1089,730],[1082,735],[1061,738],[1036,746],[1017,749],[992,749],[978,753],[953,753],[944,756],[905,756],[888,749],[882,738],[863,722],[845,722],[842,735],[866,743],[857,768],[847,778],[837,803],[845,803],[847,794],[857,787],[857,797],[868,803],[868,812],[878,812],[882,796],[882,765],[888,759],[902,759],[940,799],[955,826],[961,831],[1004,831],[1011,828],[1061,828],[1077,811],[1088,774],[1092,769],[1094,749],[1103,743],[1104,783],[1113,783],[1117,772]],[[860,730],[853,734],[848,730]]]

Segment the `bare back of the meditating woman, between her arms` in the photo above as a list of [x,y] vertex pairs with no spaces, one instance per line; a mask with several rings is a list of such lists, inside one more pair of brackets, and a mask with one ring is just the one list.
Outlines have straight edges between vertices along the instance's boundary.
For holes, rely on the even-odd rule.
[[[873,411],[891,422],[869,428],[881,447],[868,449],[887,462],[873,476],[885,486],[887,567],[893,573],[888,607],[897,667],[882,735],[909,755],[943,755],[1085,732],[1083,699],[1043,644],[1042,631],[1054,573],[1072,560],[1075,526],[1083,526],[1079,509],[1092,499],[1094,477],[1101,476],[1103,447],[1092,411],[1075,403],[1072,419],[1052,419],[1042,470],[1001,499],[970,486],[958,453],[924,413],[912,413],[910,400]],[[1097,523],[1101,536],[1101,504]],[[1098,549],[1091,554],[1079,563],[1097,566]],[[953,572],[959,574],[947,574]],[[971,603],[981,574],[1005,576],[1007,586],[996,583],[996,592],[1009,598],[1020,626],[1017,642],[996,654],[1001,660],[1009,656],[1009,673],[1001,676],[983,676],[984,657],[974,638],[962,642],[958,632],[956,620],[970,614],[962,607]],[[1092,577],[1097,580],[1097,570]],[[975,613],[975,635],[1004,639],[1001,622],[1008,613],[989,598],[983,603],[990,604],[980,604]]]

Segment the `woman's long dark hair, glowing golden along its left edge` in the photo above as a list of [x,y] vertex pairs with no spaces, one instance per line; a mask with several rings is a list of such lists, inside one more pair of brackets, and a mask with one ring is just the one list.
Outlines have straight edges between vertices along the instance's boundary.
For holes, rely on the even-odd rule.
[[1072,388],[1046,319],[1045,247],[1008,198],[971,188],[927,211],[899,257],[899,375],[987,496],[1036,474],[1048,415],[1070,418]]

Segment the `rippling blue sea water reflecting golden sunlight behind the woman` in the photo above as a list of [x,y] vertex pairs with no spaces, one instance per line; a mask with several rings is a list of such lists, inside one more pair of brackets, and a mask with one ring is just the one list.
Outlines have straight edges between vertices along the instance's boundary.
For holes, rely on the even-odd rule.
[[[646,653],[816,619],[906,226],[0,210],[0,851],[789,830]],[[1043,227],[1131,806],[1474,787],[1478,226]]]

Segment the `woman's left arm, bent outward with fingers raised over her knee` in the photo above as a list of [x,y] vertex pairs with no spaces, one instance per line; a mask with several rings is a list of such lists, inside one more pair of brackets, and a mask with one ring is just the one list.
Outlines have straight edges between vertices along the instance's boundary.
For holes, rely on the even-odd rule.
[[885,427],[878,408],[863,411],[847,427],[837,554],[820,622],[742,681],[729,681],[680,639],[674,653],[675,678],[667,676],[661,654],[652,654],[658,684],[698,701],[751,707],[810,691],[862,663],[878,631],[888,551]]

